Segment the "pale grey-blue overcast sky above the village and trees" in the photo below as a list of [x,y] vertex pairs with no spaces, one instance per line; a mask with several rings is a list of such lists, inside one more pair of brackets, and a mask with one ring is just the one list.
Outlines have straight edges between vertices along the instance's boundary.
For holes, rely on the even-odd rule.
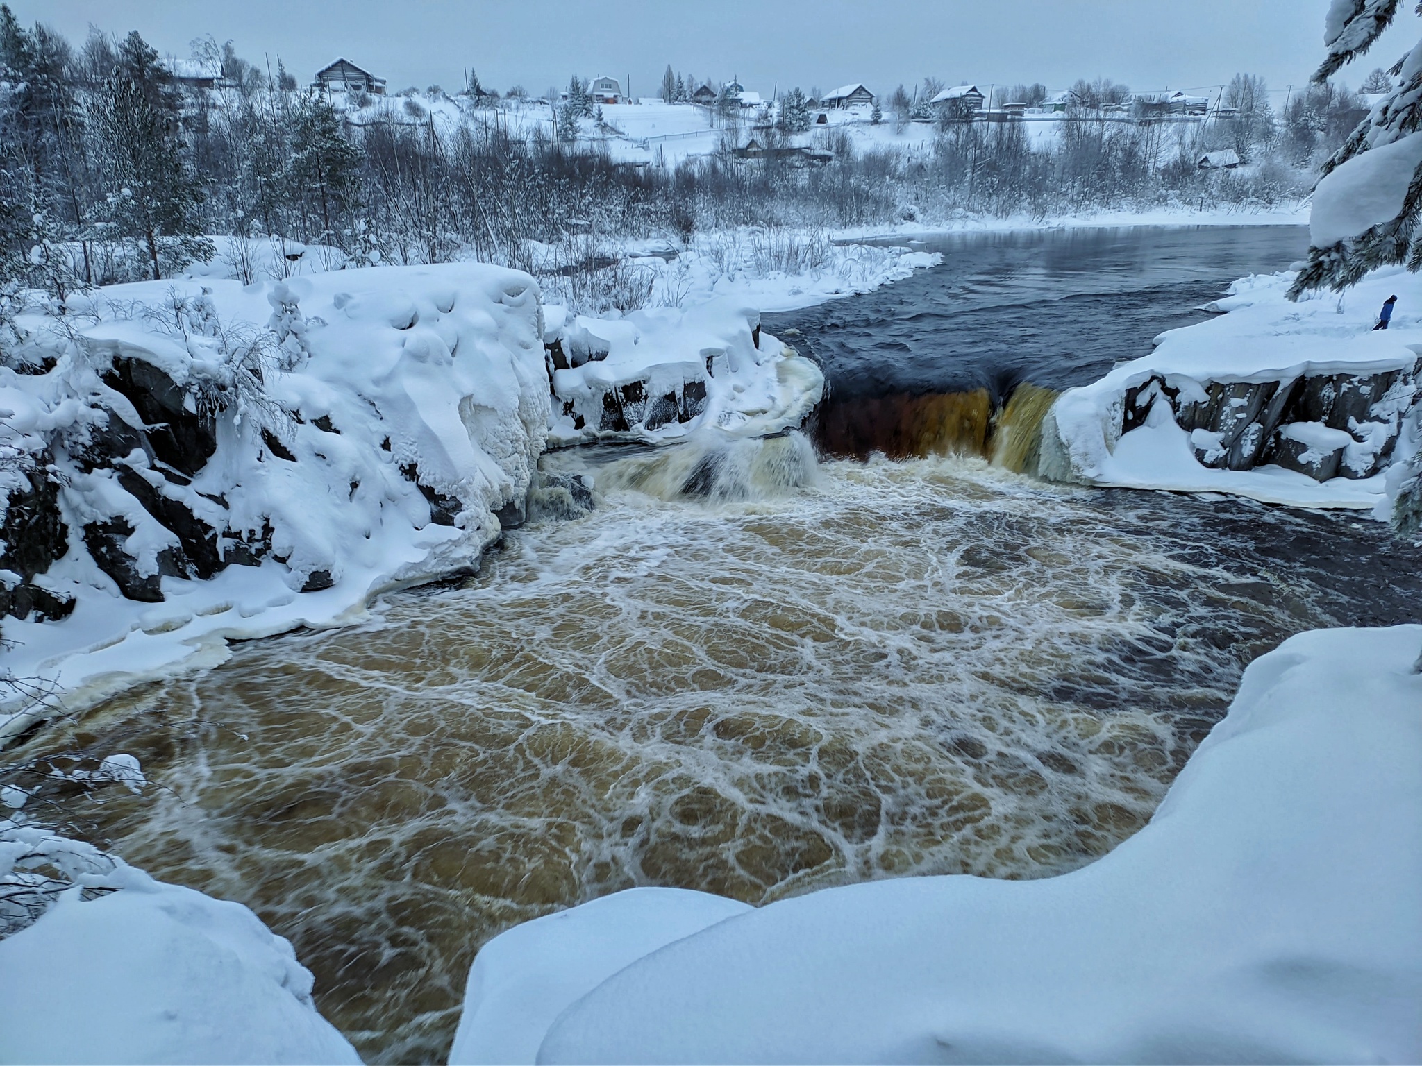
[[[1105,75],[1136,91],[1203,90],[1236,71],[1263,75],[1283,102],[1322,55],[1328,0],[9,0],[81,41],[94,24],[138,30],[164,54],[232,40],[255,63],[280,55],[303,84],[338,55],[394,92],[454,91],[465,68],[499,91],[540,95],[584,77],[630,77],[656,95],[661,71],[738,75],[747,88],[805,90],[863,81],[875,92],[924,75],[948,84],[1042,81],[1065,88]],[[1357,85],[1391,65],[1422,20],[1398,26],[1345,68]],[[627,87],[624,85],[624,90]]]

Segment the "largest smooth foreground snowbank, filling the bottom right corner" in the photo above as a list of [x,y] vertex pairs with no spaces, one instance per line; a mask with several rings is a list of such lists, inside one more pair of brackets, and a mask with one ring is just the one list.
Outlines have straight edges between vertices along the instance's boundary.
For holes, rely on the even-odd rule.
[[[510,1056],[542,1036],[540,1062],[1415,1062],[1419,651],[1401,625],[1258,658],[1150,824],[1074,873],[774,903],[643,955],[546,1036],[556,1002],[493,1025],[483,985],[471,1009]],[[546,930],[580,969],[637,903]],[[556,968],[532,940],[501,952],[509,988]]]

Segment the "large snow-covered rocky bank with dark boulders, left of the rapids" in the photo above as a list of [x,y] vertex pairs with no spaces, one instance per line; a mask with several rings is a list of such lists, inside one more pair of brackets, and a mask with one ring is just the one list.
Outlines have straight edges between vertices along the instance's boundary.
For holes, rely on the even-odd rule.
[[357,617],[520,519],[550,411],[528,274],[151,281],[81,310],[73,335],[28,323],[48,372],[0,368],[27,468],[3,486],[0,577],[28,614],[4,620],[6,667],[71,708]]

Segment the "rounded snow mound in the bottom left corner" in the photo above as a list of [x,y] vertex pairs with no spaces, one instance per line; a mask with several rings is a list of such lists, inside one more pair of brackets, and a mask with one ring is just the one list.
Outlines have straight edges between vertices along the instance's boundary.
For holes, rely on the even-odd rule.
[[0,822],[0,884],[37,864],[73,884],[0,940],[0,1062],[360,1062],[292,945],[246,907]]

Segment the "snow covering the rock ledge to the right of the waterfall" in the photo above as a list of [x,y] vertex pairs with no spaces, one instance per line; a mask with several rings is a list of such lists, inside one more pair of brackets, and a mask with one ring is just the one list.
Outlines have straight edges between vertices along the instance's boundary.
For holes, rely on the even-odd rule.
[[[1226,314],[1160,334],[1149,355],[1091,385],[1066,389],[1042,425],[1044,455],[1052,456],[1044,459],[1042,473],[1101,486],[1226,492],[1264,503],[1374,510],[1385,519],[1386,470],[1318,482],[1277,465],[1212,469],[1196,458],[1200,431],[1192,441],[1166,404],[1153,405],[1143,425],[1122,432],[1126,391],[1152,378],[1179,389],[1187,401],[1203,398],[1212,382],[1291,382],[1332,374],[1409,372],[1418,365],[1422,284],[1413,276],[1401,269],[1376,271],[1344,298],[1297,304],[1284,297],[1291,279],[1288,273],[1241,279],[1212,304]],[[1398,306],[1406,310],[1391,330],[1375,333],[1376,308],[1392,294],[1399,294]],[[1411,407],[1408,414],[1409,401],[1399,404],[1402,409],[1388,416],[1399,419],[1394,455],[1401,459],[1416,449],[1419,408]],[[1331,438],[1334,445],[1342,436]]]

